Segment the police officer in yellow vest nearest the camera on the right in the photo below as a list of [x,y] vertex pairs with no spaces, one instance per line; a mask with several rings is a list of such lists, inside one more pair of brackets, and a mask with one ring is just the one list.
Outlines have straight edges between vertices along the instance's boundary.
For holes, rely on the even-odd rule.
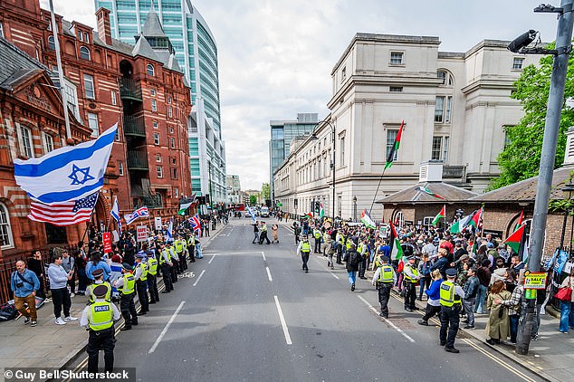
[[[459,350],[454,348],[454,339],[458,331],[460,321],[459,313],[463,306],[464,291],[459,285],[454,283],[456,270],[449,268],[446,270],[446,281],[441,284],[441,329],[440,344],[445,346],[449,353],[458,353]],[[446,332],[448,331],[448,337]]]

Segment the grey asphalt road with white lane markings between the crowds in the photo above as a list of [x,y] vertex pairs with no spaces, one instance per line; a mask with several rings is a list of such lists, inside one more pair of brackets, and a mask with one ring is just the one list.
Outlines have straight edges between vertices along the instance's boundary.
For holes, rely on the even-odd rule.
[[193,275],[118,335],[116,368],[141,381],[541,380],[474,339],[446,353],[438,329],[417,325],[421,314],[396,298],[380,319],[369,281],[351,292],[344,267],[328,270],[322,255],[305,274],[291,231],[252,244],[250,223],[232,219]]

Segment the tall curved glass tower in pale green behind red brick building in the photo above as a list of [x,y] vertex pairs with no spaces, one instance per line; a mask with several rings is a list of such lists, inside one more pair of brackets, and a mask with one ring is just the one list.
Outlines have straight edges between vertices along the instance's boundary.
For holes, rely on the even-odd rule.
[[[189,0],[94,0],[96,9],[110,10],[112,37],[134,43],[150,11],[158,14],[176,58],[184,68],[191,100],[198,116],[189,129],[193,191],[212,189],[217,202],[225,202],[225,144],[221,134],[217,44],[205,19]],[[204,124],[205,121],[205,124]]]

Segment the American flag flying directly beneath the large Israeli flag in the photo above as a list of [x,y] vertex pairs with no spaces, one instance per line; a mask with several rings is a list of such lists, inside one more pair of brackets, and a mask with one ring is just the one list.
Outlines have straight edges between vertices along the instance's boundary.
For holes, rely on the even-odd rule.
[[60,226],[85,222],[90,220],[91,211],[98,201],[99,194],[99,192],[96,192],[91,194],[91,196],[76,201],[56,203],[54,205],[32,202],[28,218],[36,222]]

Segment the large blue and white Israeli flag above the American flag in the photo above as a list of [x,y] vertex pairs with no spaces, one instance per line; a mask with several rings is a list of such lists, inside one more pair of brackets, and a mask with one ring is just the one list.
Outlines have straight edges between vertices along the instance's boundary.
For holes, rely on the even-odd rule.
[[55,149],[42,158],[14,159],[14,177],[33,200],[46,205],[90,196],[103,186],[118,124],[100,138]]

